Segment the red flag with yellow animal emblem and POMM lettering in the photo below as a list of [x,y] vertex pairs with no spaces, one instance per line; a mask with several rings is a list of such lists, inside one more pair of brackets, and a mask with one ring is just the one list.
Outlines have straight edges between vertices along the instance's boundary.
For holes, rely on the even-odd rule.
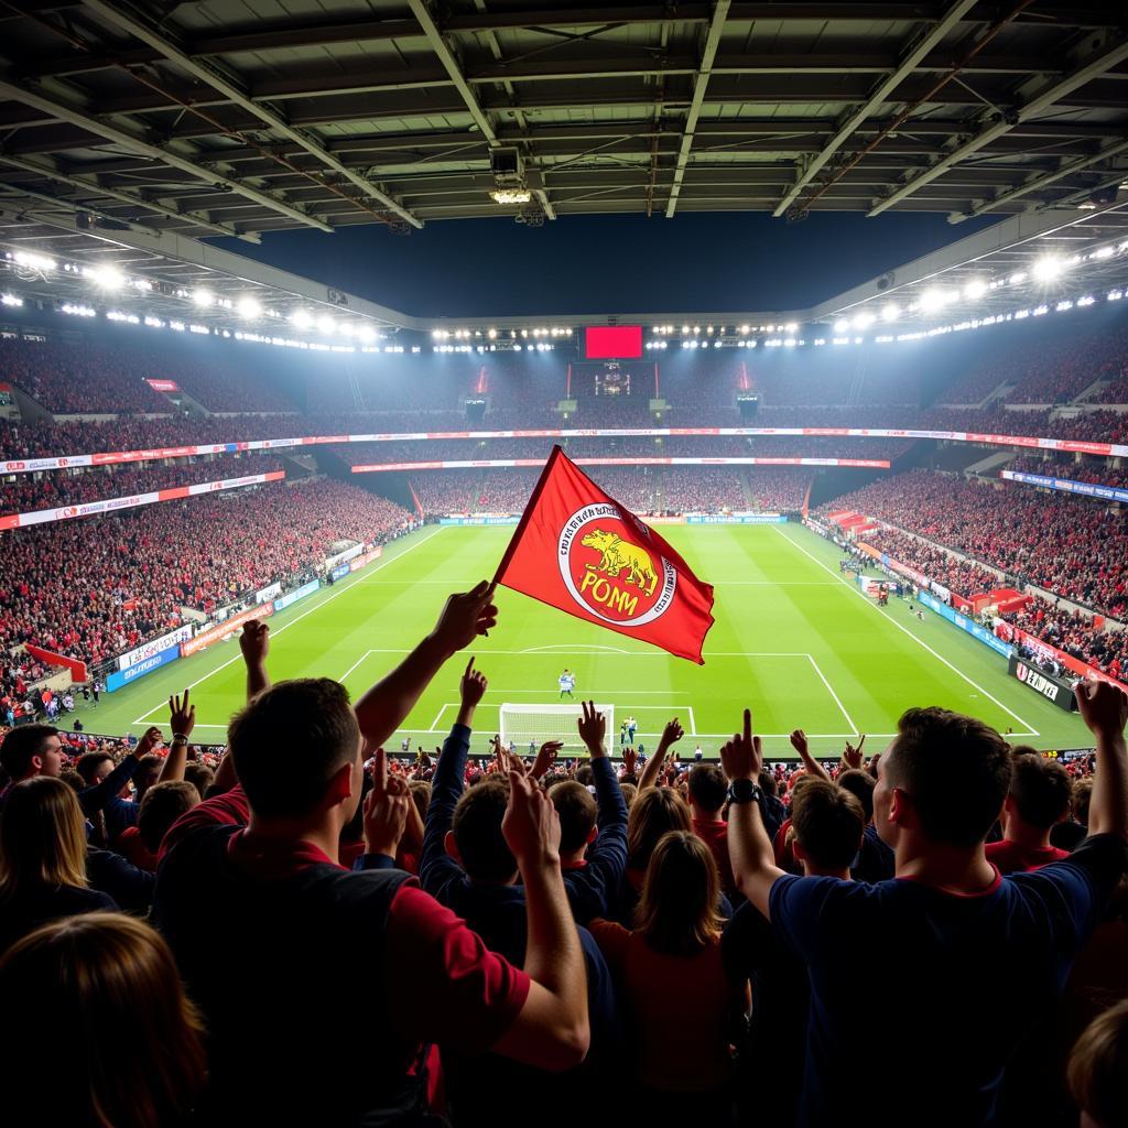
[[713,588],[559,447],[553,448],[494,582],[704,664]]

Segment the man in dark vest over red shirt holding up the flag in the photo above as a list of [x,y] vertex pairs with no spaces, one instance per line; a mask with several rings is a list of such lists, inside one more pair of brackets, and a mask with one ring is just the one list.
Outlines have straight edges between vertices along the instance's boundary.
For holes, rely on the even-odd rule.
[[228,733],[238,785],[169,830],[153,905],[208,1030],[202,1121],[422,1123],[430,1043],[544,1069],[587,1054],[559,821],[523,775],[510,779],[503,823],[527,904],[523,971],[391,869],[411,797],[382,752],[364,837],[384,866],[352,872],[335,861],[365,744],[382,746],[434,673],[495,625],[491,596],[482,583],[451,597],[432,634],[355,712],[327,678],[270,687],[265,625],[240,640],[250,700]]

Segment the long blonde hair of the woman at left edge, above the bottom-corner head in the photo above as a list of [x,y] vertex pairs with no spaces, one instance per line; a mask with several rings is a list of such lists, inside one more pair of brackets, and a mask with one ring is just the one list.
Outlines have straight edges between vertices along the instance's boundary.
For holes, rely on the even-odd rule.
[[86,884],[86,825],[62,779],[33,776],[0,811],[0,900],[44,885]]

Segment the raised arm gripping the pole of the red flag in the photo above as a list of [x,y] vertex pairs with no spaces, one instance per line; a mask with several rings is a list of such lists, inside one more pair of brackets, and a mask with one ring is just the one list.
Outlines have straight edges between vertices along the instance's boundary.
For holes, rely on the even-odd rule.
[[356,703],[356,720],[367,746],[386,743],[443,663],[496,623],[493,588],[485,580],[470,591],[451,596],[431,634]]

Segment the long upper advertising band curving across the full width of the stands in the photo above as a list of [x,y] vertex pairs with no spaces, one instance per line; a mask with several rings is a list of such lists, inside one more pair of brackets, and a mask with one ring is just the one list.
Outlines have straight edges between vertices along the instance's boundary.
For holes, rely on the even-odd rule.
[[[272,450],[277,447],[317,447],[352,442],[423,442],[447,439],[616,439],[664,438],[680,435],[809,435],[848,439],[940,439],[948,442],[977,442],[995,447],[1024,447],[1039,450],[1079,451],[1085,455],[1128,457],[1128,446],[1110,442],[1085,442],[1074,439],[1043,439],[1013,434],[979,434],[970,431],[920,431],[892,428],[830,426],[660,426],[660,428],[530,428],[511,431],[396,431],[384,434],[321,434],[300,439],[255,439],[247,442],[205,443],[192,447],[165,447],[153,450],[114,450],[92,455],[64,455],[58,458],[26,458],[0,461],[0,474],[30,474],[35,470],[59,470],[69,466],[108,466],[113,462],[140,462],[160,458],[183,458],[188,455],[236,453],[244,450]],[[634,461],[633,459],[631,460]],[[761,459],[773,465],[770,459]],[[539,465],[539,464],[538,464]],[[688,465],[693,465],[690,461]],[[781,465],[781,464],[775,464]],[[782,465],[788,465],[785,460]],[[803,465],[854,465],[846,460],[821,460]],[[858,465],[884,468],[888,462],[860,460]],[[1082,483],[1084,484],[1084,483]]]

